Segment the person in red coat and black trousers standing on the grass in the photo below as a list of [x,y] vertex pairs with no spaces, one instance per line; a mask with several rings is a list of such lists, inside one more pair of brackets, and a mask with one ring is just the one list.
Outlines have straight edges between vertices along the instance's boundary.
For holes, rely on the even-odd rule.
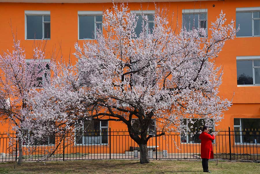
[[212,147],[212,140],[215,139],[214,135],[209,134],[209,127],[204,126],[202,129],[202,133],[199,136],[201,140],[200,144],[200,153],[202,158],[202,167],[203,172],[211,173],[209,171],[209,159],[214,158],[213,156],[213,147]]

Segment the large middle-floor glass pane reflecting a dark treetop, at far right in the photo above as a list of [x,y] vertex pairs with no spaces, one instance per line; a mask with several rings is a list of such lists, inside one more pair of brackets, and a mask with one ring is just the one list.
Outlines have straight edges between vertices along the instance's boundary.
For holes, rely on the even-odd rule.
[[252,60],[237,61],[237,84],[253,84]]

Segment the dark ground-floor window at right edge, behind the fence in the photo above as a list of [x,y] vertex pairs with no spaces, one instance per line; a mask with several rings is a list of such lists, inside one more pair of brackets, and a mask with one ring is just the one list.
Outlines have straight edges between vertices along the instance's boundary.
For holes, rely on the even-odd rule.
[[260,119],[234,119],[236,143],[260,143]]

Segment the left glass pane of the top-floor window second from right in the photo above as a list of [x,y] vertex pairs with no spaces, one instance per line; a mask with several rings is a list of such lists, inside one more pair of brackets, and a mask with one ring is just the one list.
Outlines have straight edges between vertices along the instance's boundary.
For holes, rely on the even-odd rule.
[[198,14],[183,14],[183,26],[187,31],[198,29]]

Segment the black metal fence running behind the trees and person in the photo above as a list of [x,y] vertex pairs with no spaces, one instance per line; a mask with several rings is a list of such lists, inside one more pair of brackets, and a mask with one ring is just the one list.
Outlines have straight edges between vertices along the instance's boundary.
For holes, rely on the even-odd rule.
[[[214,158],[226,160],[260,160],[260,130],[219,131],[213,140]],[[160,134],[161,132],[155,132]],[[168,132],[150,138],[147,143],[151,159],[199,159],[198,134],[191,136]],[[23,143],[19,152],[15,134],[0,134],[0,162],[23,161],[139,159],[139,146],[127,131],[96,130],[48,137],[34,145]]]

